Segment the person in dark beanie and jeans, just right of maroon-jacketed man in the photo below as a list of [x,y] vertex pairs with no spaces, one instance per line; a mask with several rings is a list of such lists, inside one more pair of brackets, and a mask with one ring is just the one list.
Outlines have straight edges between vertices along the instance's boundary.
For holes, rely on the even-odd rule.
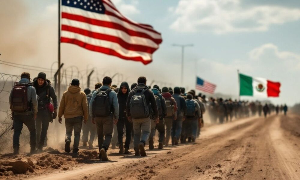
[[184,121],[184,117],[187,111],[187,104],[184,98],[180,95],[180,88],[174,88],[174,95],[173,98],[177,104],[177,119],[173,120],[173,127],[172,127],[172,145],[178,145],[178,140],[182,131],[182,122]]

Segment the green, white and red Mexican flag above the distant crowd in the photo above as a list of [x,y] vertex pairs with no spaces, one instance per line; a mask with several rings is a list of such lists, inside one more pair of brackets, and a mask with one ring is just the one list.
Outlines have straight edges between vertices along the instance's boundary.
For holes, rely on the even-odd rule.
[[258,98],[279,97],[280,82],[272,82],[261,77],[251,77],[239,74],[240,96]]

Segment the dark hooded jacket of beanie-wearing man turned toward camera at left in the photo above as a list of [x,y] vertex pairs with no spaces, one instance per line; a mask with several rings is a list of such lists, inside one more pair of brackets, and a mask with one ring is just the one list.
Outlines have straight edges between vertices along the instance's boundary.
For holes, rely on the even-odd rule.
[[[33,87],[35,87],[35,90],[38,95],[38,109],[44,109],[46,108],[46,104],[49,103],[50,98],[52,98],[54,109],[57,109],[58,103],[57,103],[57,96],[55,94],[55,90],[51,85],[51,81],[46,79],[44,84],[42,86],[38,85],[38,79],[32,82]],[[49,99],[47,97],[49,89]]]

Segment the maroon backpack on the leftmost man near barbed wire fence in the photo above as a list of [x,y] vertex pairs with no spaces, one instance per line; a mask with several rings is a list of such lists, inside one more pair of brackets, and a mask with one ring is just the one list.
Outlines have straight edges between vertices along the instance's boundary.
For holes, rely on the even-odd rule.
[[10,98],[10,109],[12,111],[17,112],[26,112],[30,110],[30,103],[27,99],[27,87],[31,86],[31,83],[28,84],[18,84],[15,83],[13,89],[11,91],[11,98]]

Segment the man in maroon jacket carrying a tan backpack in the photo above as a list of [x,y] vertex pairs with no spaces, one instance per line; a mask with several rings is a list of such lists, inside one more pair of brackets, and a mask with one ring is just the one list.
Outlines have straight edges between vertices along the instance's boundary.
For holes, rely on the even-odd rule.
[[[165,146],[169,146],[169,141],[171,137],[171,129],[173,126],[173,121],[176,121],[177,119],[177,104],[175,99],[172,97],[172,95],[169,92],[169,88],[163,87],[161,95],[165,98],[166,106],[167,106],[167,112],[171,112],[170,116],[167,115],[164,118],[165,125],[166,125],[166,138],[165,138]],[[171,109],[169,109],[171,108]]]

